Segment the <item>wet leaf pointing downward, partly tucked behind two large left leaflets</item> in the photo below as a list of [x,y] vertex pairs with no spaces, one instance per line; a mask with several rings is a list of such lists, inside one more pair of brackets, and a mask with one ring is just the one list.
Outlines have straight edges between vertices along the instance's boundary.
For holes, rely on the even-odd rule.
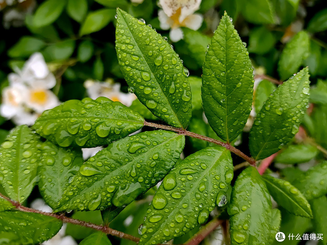
[[81,151],[61,148],[50,141],[44,142],[39,149],[41,166],[38,186],[45,202],[55,209],[64,189],[84,160]]

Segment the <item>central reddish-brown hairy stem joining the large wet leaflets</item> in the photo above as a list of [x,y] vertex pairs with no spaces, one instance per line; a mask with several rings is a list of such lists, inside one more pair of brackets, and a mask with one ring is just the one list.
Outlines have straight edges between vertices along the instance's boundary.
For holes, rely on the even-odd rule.
[[249,157],[249,156],[245,155],[243,152],[241,152],[240,150],[236,149],[235,147],[233,147],[232,145],[230,145],[228,143],[224,143],[222,141],[209,138],[207,136],[199,135],[199,134],[184,130],[182,128],[174,128],[174,127],[165,126],[165,125],[162,125],[162,124],[149,123],[149,122],[146,122],[146,121],[144,122],[144,125],[149,126],[149,127],[162,128],[162,129],[165,129],[165,130],[174,131],[174,132],[182,134],[182,135],[190,136],[190,137],[197,138],[197,139],[202,139],[202,140],[214,143],[216,145],[220,145],[222,147],[225,147],[227,150],[231,151],[232,153],[242,157],[244,160],[249,162],[252,166],[255,166],[255,160],[252,157]]

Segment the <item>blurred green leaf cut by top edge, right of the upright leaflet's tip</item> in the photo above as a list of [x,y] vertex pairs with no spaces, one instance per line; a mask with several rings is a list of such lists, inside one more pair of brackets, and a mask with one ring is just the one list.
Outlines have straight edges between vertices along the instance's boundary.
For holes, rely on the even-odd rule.
[[244,18],[254,24],[273,24],[275,13],[270,0],[238,0]]

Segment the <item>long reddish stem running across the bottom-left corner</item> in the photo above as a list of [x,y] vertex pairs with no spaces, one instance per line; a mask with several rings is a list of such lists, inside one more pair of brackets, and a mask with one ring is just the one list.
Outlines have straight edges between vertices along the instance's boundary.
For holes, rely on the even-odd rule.
[[15,206],[15,209],[17,209],[19,211],[28,212],[28,213],[43,214],[43,215],[50,216],[50,217],[56,218],[58,220],[61,220],[62,222],[88,227],[88,228],[91,228],[91,229],[94,229],[94,230],[102,231],[103,233],[106,233],[106,234],[109,234],[109,235],[112,235],[112,236],[115,236],[115,237],[128,239],[128,240],[134,241],[136,243],[140,240],[138,237],[134,237],[132,235],[123,233],[121,231],[114,230],[114,229],[112,229],[112,228],[110,228],[108,226],[97,225],[97,224],[93,224],[93,223],[90,223],[90,222],[80,221],[80,220],[76,220],[76,219],[73,219],[73,218],[69,218],[69,217],[66,217],[64,215],[43,212],[43,211],[40,211],[40,210],[37,210],[37,209],[25,207],[25,206],[19,204],[18,202],[15,202],[15,201],[9,199],[8,197],[4,196],[1,193],[0,193],[0,197],[2,197],[4,199],[6,199],[7,201],[9,201],[12,205]]

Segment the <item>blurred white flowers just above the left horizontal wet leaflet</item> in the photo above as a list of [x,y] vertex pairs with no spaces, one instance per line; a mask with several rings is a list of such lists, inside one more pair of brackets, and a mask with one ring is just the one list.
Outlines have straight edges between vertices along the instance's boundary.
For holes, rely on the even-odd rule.
[[106,82],[99,82],[94,80],[86,80],[84,82],[87,94],[91,99],[98,97],[107,97],[112,101],[119,101],[125,106],[130,106],[136,99],[135,94],[123,93],[120,91],[120,83],[113,83],[112,79]]

